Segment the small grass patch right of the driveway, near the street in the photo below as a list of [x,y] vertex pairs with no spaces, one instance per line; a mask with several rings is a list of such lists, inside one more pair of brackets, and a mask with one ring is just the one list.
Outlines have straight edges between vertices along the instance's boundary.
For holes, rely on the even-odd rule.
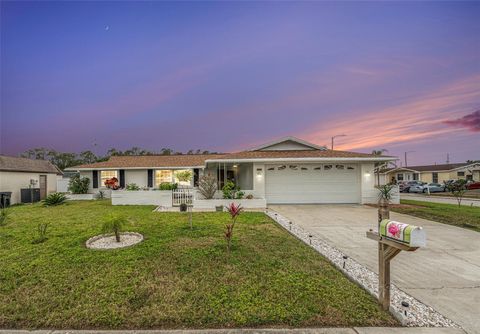
[[480,232],[480,207],[401,200],[405,206],[393,205],[390,210]]

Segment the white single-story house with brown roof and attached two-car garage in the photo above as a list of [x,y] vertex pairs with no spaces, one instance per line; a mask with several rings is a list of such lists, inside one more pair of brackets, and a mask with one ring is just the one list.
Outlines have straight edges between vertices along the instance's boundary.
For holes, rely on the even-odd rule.
[[372,203],[374,164],[394,157],[333,151],[287,137],[249,151],[209,155],[112,156],[108,161],[67,168],[90,179],[90,192],[116,177],[120,187],[156,188],[177,182],[175,172],[191,170],[190,186],[210,174],[221,190],[227,180],[267,203]]

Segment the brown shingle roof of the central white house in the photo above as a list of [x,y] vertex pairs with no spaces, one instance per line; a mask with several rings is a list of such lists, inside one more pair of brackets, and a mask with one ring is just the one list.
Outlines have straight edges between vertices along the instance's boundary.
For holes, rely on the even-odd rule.
[[[108,161],[85,164],[67,168],[67,170],[88,168],[161,168],[204,166],[206,160],[231,159],[275,159],[275,158],[378,158],[379,156],[332,150],[302,151],[243,151],[227,154],[184,154],[184,155],[142,155],[112,156]],[[381,158],[388,158],[382,156]],[[392,158],[393,160],[393,158]]]

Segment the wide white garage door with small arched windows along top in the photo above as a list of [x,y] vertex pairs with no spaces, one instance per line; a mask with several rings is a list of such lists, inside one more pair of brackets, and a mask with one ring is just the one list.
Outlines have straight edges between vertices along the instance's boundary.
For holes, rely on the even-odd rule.
[[265,169],[267,203],[360,202],[358,165],[278,164]]

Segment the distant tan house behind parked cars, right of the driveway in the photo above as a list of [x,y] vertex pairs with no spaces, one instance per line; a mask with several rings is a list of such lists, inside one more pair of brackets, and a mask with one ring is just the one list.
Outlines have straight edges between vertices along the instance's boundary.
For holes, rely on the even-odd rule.
[[380,171],[381,184],[392,182],[392,180],[443,183],[443,181],[456,179],[480,181],[480,163],[409,166]]

